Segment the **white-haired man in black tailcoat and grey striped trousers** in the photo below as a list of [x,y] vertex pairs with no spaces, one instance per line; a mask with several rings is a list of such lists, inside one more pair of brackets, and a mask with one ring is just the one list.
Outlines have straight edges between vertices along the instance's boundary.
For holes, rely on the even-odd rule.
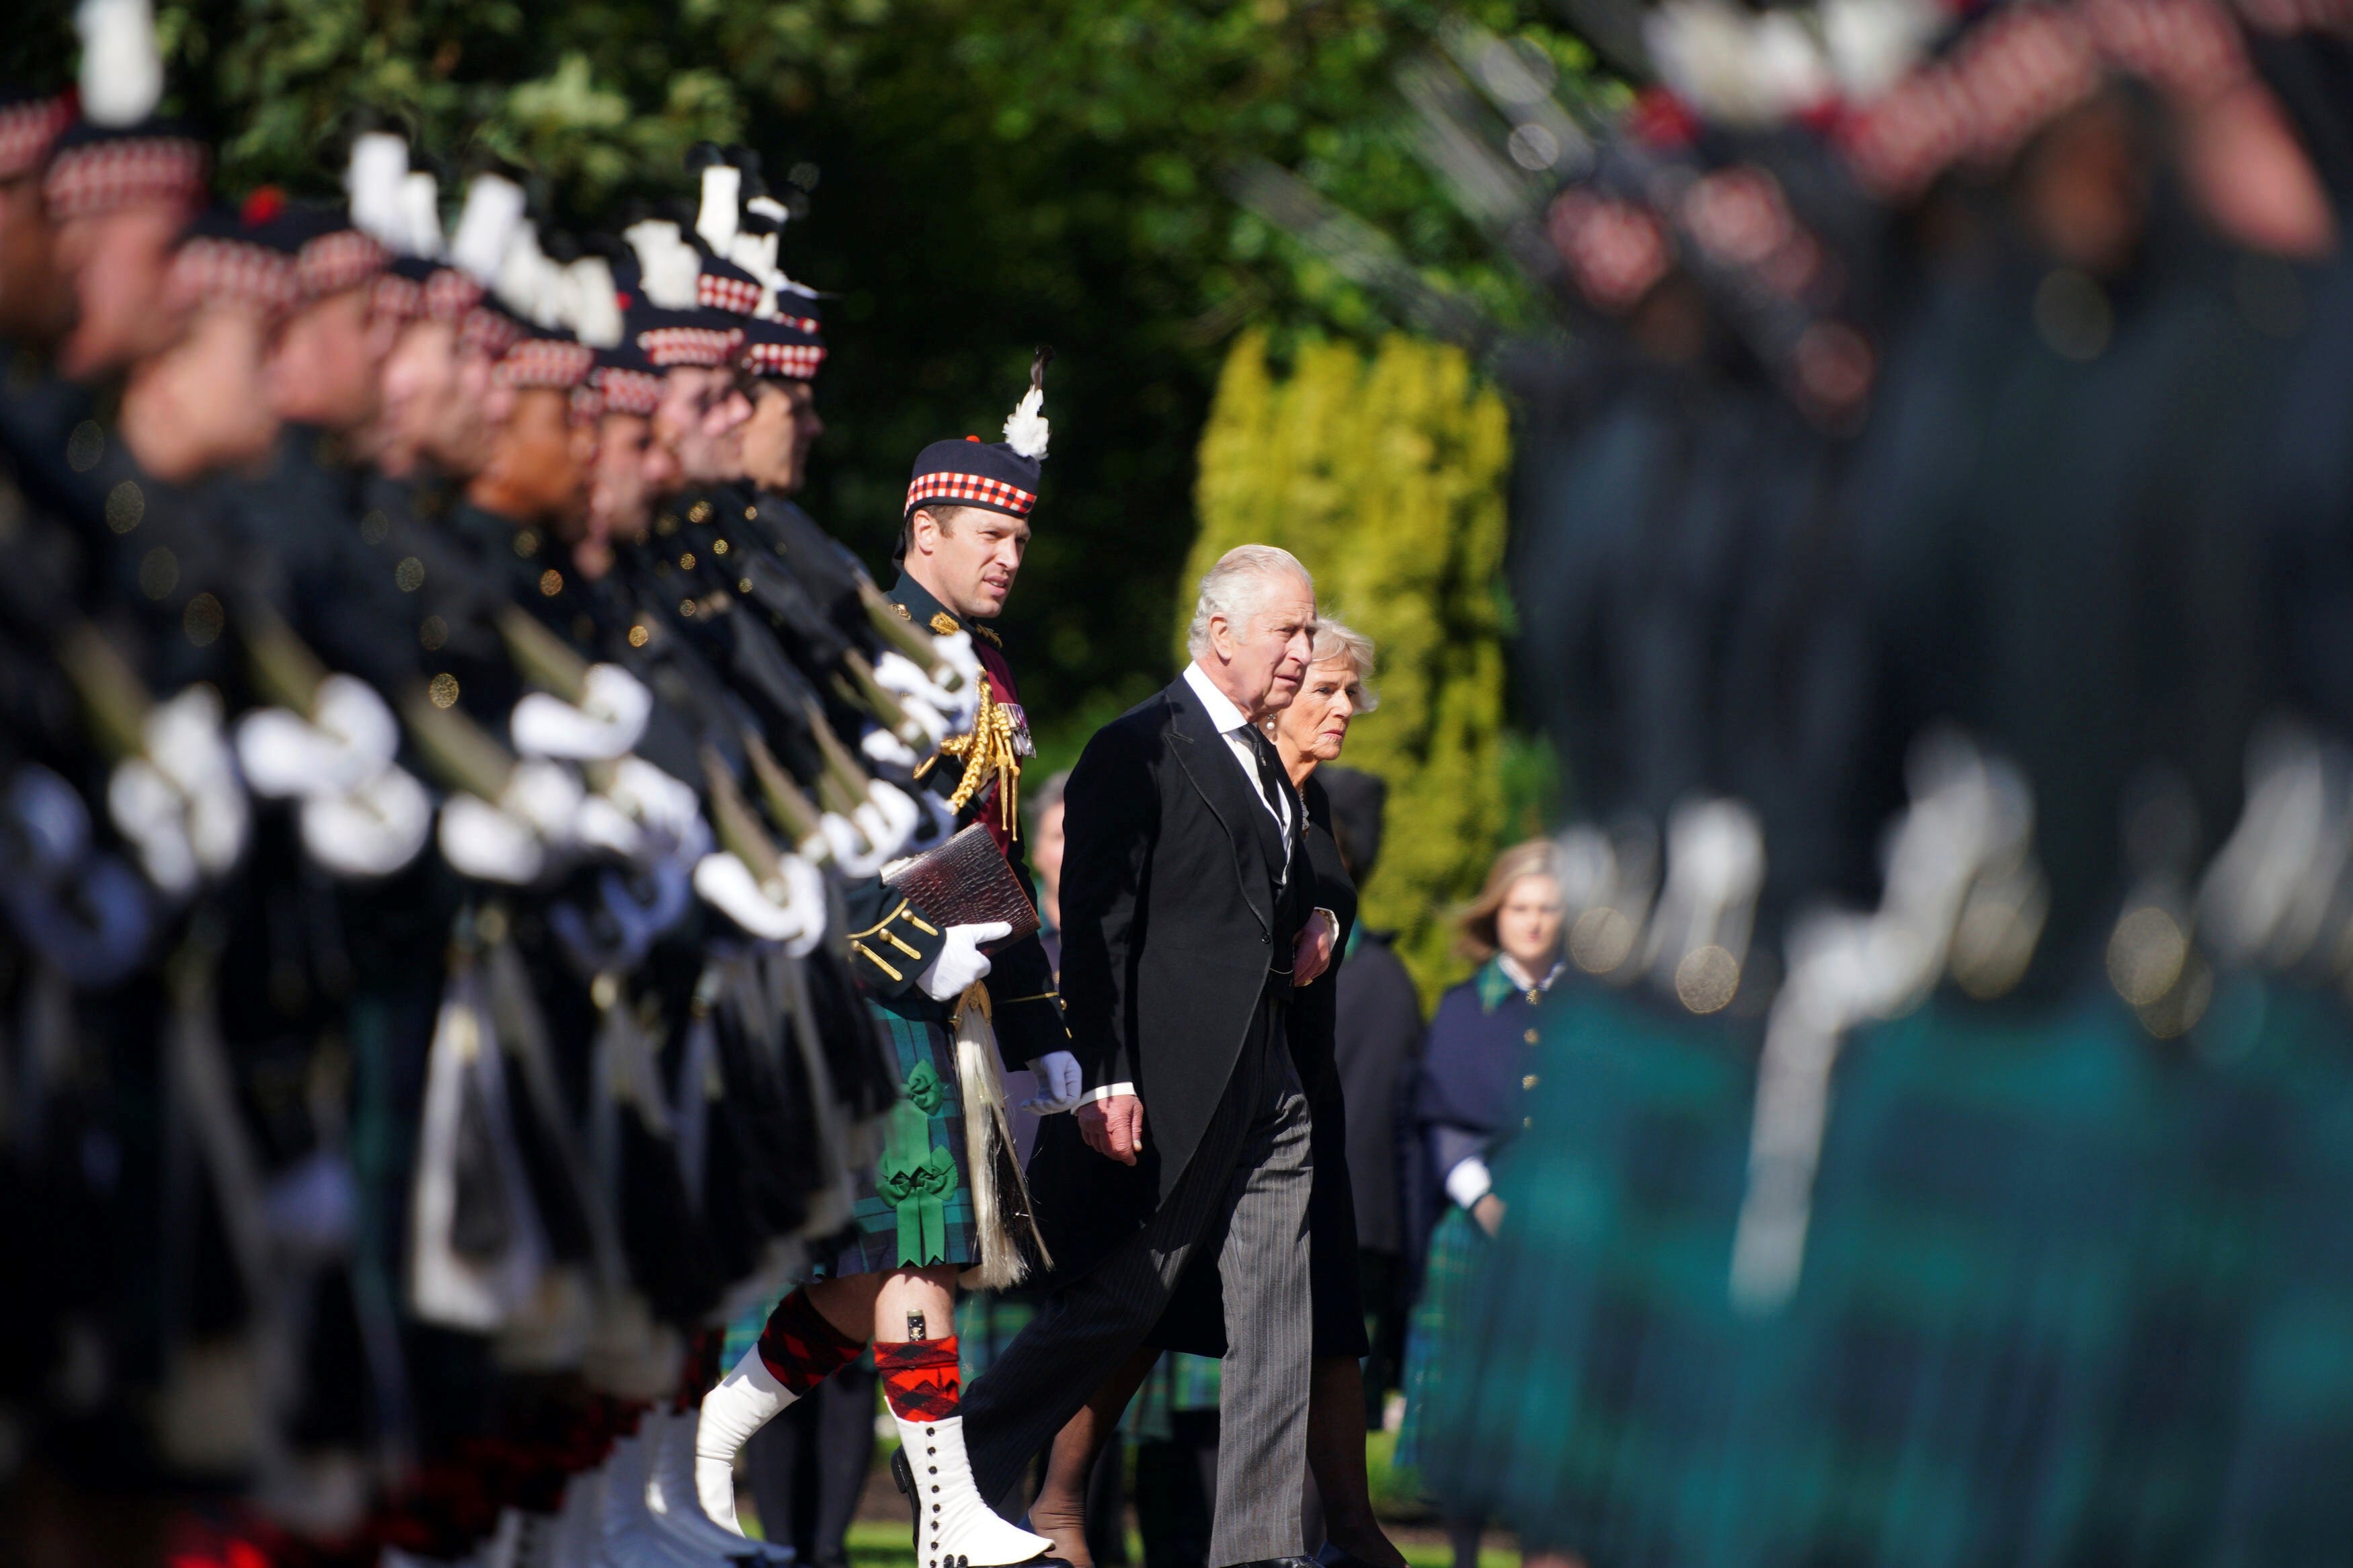
[[1061,994],[1089,1088],[1031,1161],[1056,1288],[965,1403],[974,1481],[1002,1497],[1209,1248],[1233,1347],[1212,1568],[1301,1552],[1311,1168],[1282,1023],[1337,922],[1308,907],[1306,811],[1259,722],[1297,696],[1313,630],[1297,559],[1226,552],[1193,663],[1071,771]]

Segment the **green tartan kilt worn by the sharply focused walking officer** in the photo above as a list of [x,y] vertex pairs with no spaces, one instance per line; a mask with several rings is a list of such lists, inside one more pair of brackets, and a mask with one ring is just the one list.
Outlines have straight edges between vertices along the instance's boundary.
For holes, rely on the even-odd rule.
[[816,1248],[814,1279],[981,1260],[965,1157],[965,1095],[946,1009],[866,999],[899,1060],[899,1105],[882,1119],[882,1154],[856,1180],[849,1225]]

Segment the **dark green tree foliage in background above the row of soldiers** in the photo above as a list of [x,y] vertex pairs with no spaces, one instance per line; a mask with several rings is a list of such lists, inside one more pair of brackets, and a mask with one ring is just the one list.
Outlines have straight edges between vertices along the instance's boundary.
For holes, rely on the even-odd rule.
[[[56,0],[35,0],[56,5]],[[1532,0],[1475,21],[1588,61]],[[887,569],[906,465],[995,440],[1054,343],[1054,454],[1007,616],[1052,733],[1169,672],[1193,541],[1193,447],[1245,324],[1372,336],[1377,303],[1242,214],[1221,176],[1266,158],[1386,228],[1506,320],[1487,259],[1398,134],[1393,71],[1421,0],[158,0],[174,101],[221,139],[221,188],[329,186],[362,115],[456,176],[529,174],[544,221],[685,193],[701,139],[760,150],[809,216],[784,263],[828,294],[828,433],[809,510]],[[0,66],[59,80],[64,7],[5,28]]]

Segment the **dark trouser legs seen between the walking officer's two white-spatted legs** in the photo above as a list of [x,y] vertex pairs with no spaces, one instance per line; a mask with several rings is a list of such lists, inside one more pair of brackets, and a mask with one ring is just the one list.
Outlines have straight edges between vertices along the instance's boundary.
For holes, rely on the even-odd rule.
[[760,1533],[809,1568],[849,1561],[849,1521],[875,1458],[875,1371],[849,1363],[744,1446]]

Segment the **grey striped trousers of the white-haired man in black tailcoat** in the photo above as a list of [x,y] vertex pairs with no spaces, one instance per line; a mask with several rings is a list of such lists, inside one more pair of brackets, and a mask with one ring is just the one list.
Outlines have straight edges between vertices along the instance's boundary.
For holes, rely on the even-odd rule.
[[[1144,1342],[1186,1258],[1217,1251],[1226,1286],[1217,1523],[1209,1563],[1297,1556],[1308,1441],[1308,1103],[1261,1004],[1226,1098],[1151,1222],[1056,1291],[965,1392],[965,1443],[984,1497],[1002,1497],[1087,1394]],[[1151,1103],[1144,1117],[1151,1121]]]

